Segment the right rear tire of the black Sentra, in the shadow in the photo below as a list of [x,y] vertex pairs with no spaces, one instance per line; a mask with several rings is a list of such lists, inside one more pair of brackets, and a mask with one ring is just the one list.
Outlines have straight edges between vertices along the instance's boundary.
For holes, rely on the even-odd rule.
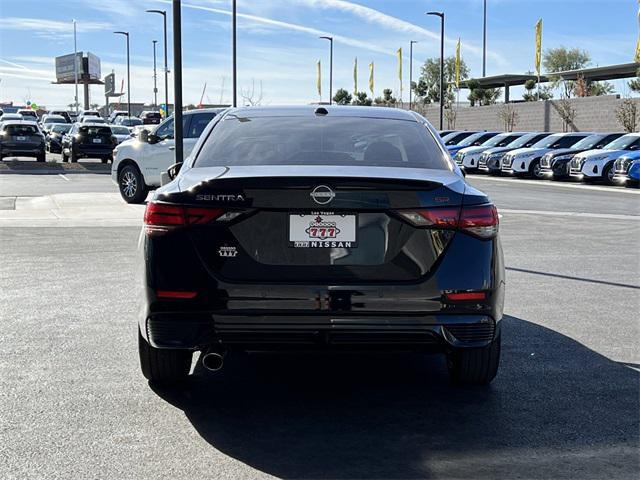
[[451,380],[460,385],[488,385],[498,373],[501,335],[482,348],[456,348],[447,354]]

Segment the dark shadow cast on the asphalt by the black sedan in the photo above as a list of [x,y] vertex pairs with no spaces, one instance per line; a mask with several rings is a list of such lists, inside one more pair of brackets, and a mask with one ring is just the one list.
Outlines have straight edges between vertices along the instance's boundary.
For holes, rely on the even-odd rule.
[[237,354],[153,388],[217,450],[281,478],[632,478],[638,380],[506,317],[489,387],[451,386],[441,356]]

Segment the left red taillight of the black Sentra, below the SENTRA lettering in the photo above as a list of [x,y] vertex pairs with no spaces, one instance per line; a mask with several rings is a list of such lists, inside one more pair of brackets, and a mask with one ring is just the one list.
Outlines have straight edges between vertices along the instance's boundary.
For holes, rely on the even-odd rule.
[[162,234],[177,227],[206,224],[224,214],[222,208],[149,202],[144,211],[144,227],[147,235]]

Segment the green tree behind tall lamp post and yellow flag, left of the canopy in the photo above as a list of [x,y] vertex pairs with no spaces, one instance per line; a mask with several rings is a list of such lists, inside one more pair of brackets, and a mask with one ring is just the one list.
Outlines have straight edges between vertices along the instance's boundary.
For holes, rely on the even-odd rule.
[[[440,58],[428,58],[420,68],[420,78],[411,85],[411,90],[416,96],[416,103],[440,102]],[[463,59],[460,59],[460,80],[469,78],[469,68]],[[444,90],[445,103],[453,103],[455,100],[456,58],[450,56],[444,60]]]

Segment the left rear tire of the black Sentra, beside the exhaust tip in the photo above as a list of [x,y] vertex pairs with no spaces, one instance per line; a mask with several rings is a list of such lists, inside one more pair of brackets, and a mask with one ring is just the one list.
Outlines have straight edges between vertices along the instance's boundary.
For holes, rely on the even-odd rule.
[[138,331],[140,368],[147,380],[158,385],[175,385],[184,382],[191,369],[193,352],[154,348]]

